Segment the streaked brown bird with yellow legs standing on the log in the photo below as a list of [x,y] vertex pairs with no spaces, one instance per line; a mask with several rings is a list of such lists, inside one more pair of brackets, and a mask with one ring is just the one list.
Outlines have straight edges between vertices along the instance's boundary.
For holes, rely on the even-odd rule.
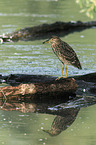
[[50,39],[43,42],[43,44],[45,43],[50,43],[52,45],[53,52],[62,62],[61,77],[59,77],[58,79],[63,77],[64,68],[65,68],[66,78],[67,78],[67,65],[73,65],[78,69],[82,69],[77,54],[68,43],[62,41],[58,36],[52,36]]

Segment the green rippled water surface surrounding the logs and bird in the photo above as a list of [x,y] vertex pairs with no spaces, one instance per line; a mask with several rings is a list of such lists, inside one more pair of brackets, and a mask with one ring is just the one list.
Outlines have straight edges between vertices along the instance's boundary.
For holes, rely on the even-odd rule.
[[[20,28],[56,21],[90,21],[79,13],[75,1],[58,0],[4,0],[0,1],[0,34]],[[96,18],[94,18],[95,20]],[[68,66],[68,75],[96,71],[96,28],[74,32],[62,40],[68,42],[78,54],[82,70]],[[61,62],[44,40],[6,43],[0,45],[0,73],[41,74],[60,76]],[[50,129],[56,115],[0,111],[0,144],[5,145],[95,145],[96,105],[81,108],[76,120],[58,136],[50,136],[43,129]]]

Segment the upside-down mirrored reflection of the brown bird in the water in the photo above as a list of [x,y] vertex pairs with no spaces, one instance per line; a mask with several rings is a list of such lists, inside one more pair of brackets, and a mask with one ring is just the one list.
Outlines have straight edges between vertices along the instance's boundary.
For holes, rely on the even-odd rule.
[[56,116],[50,130],[43,130],[51,136],[59,135],[66,130],[76,119],[80,108],[67,108],[63,110],[62,116]]

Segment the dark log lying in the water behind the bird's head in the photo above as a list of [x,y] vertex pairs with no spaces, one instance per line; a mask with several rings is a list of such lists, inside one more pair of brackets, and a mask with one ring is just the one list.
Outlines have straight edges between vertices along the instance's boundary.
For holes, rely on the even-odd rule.
[[81,22],[81,21],[69,21],[60,22],[57,21],[51,24],[42,24],[33,27],[26,27],[15,31],[11,34],[0,35],[1,43],[12,41],[33,41],[46,39],[52,35],[58,35],[59,37],[66,36],[70,33],[82,31],[84,29],[92,28],[96,26],[96,21]]

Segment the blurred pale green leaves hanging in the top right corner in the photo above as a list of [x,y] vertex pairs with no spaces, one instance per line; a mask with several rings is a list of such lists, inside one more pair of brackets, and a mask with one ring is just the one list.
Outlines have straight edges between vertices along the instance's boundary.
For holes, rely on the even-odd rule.
[[94,12],[96,12],[96,0],[76,0],[81,7],[80,12],[85,12],[90,18],[93,18]]

